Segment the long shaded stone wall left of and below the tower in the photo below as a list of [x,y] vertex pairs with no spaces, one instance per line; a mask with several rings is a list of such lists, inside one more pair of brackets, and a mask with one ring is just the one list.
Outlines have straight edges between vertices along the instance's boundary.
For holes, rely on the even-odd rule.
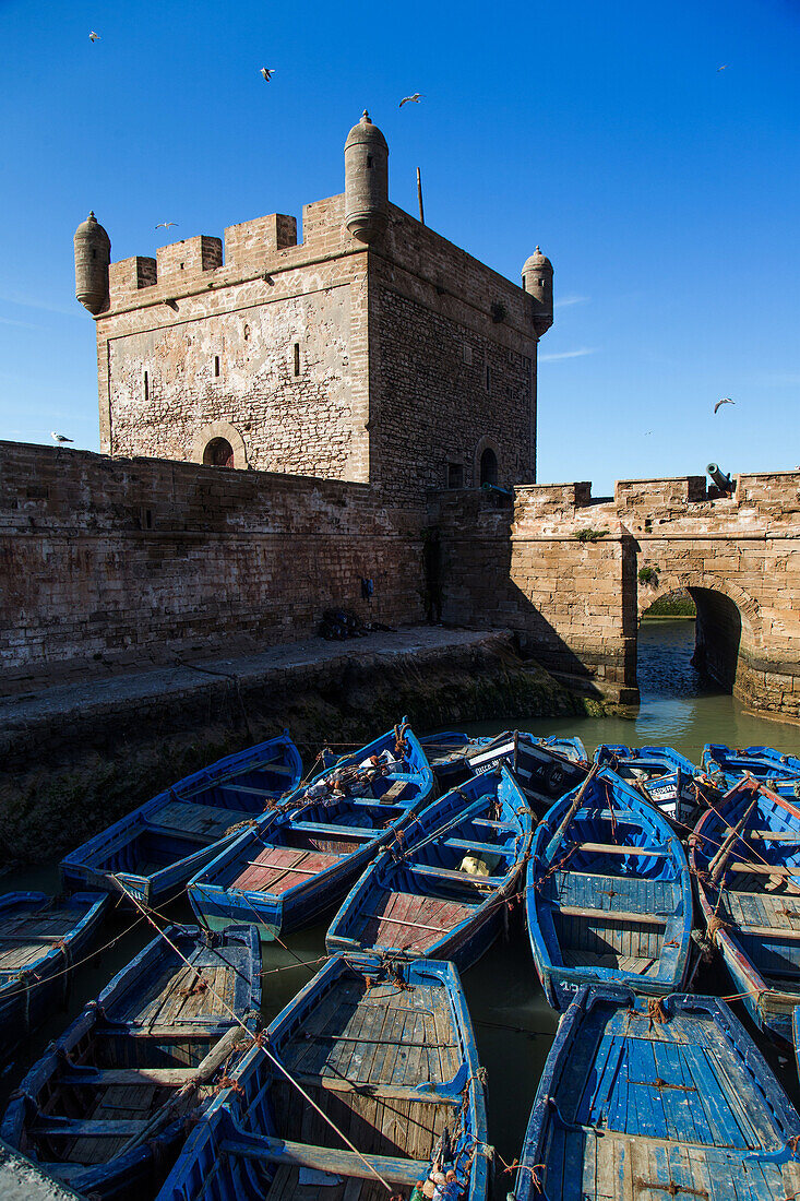
[[293,641],[333,607],[417,621],[420,522],[365,485],[0,443],[0,587],[16,691]]

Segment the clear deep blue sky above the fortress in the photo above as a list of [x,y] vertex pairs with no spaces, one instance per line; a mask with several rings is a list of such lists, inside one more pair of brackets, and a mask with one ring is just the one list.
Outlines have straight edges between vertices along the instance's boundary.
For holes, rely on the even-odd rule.
[[0,0],[0,438],[98,448],[90,208],[115,259],[299,217],[366,106],[396,204],[420,166],[444,237],[515,281],[553,259],[542,482],[800,464],[800,0]]

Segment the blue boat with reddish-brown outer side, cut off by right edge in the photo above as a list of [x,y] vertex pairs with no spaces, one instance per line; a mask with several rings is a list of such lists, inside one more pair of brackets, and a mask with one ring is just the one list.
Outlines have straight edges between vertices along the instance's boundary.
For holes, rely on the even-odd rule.
[[754,1022],[787,1042],[800,1004],[800,808],[752,777],[698,821],[691,864],[712,942]]

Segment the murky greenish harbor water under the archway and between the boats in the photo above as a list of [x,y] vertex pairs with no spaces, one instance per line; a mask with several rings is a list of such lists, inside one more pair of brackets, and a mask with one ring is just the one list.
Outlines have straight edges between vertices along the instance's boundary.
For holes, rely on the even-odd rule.
[[[659,619],[643,623],[639,635],[639,688],[641,705],[635,719],[565,718],[459,723],[470,734],[495,734],[515,724],[535,735],[578,735],[591,754],[599,742],[625,742],[634,746],[662,743],[675,747],[697,761],[705,742],[729,746],[769,745],[781,752],[800,752],[800,727],[765,721],[744,711],[730,695],[703,680],[692,667],[694,622],[685,619]],[[426,731],[418,731],[426,733]],[[8,873],[2,878],[5,891],[42,889],[58,891],[56,865]],[[177,921],[191,921],[187,903],[174,902],[166,914]],[[309,930],[286,938],[286,945],[271,943],[263,949],[263,1016],[269,1022],[294,993],[310,979],[324,958],[324,933],[329,918]],[[119,970],[151,937],[143,918],[117,909],[103,932],[112,943],[100,957],[92,957],[74,975],[68,1008],[53,1015],[47,1028],[37,1032],[18,1060],[0,1078],[0,1107],[17,1087],[28,1066],[41,1054],[49,1039],[58,1036],[80,1006],[95,997],[111,975]],[[496,1147],[495,1196],[502,1199],[513,1185],[514,1175],[506,1173],[521,1149],[521,1141],[550,1044],[557,1016],[544,999],[538,985],[527,934],[519,907],[512,915],[508,937],[462,976],[470,1014],[474,1023],[480,1060],[488,1071],[489,1141]],[[732,992],[721,962],[703,969],[697,991],[724,996]],[[739,1016],[744,1018],[740,1011]],[[745,1020],[746,1021],[746,1020]],[[751,1033],[752,1027],[748,1027]],[[758,1039],[762,1050],[778,1072],[784,1087],[798,1103],[794,1063],[766,1040]]]

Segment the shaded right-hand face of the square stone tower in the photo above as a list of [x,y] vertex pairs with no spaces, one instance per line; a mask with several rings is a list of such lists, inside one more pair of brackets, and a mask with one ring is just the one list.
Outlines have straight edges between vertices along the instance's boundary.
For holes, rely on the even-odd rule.
[[370,249],[372,478],[405,503],[479,484],[490,448],[498,483],[536,478],[532,300],[432,229],[390,207]]

